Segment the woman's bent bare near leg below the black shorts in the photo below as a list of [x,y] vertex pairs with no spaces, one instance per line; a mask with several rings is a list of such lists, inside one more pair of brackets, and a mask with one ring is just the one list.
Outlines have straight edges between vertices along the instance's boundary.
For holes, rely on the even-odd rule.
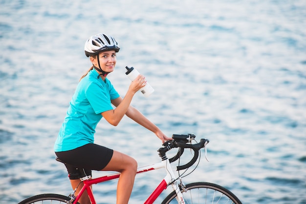
[[117,186],[117,204],[128,204],[137,172],[137,162],[128,155],[114,151],[103,171],[121,173]]

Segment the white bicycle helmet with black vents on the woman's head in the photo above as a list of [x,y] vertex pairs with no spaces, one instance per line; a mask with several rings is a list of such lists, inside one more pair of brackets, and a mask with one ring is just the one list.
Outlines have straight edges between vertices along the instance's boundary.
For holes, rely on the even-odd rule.
[[95,56],[102,51],[114,50],[115,52],[119,52],[119,49],[120,47],[118,46],[117,41],[113,37],[103,33],[91,36],[85,42],[84,47],[85,55],[87,57]]

